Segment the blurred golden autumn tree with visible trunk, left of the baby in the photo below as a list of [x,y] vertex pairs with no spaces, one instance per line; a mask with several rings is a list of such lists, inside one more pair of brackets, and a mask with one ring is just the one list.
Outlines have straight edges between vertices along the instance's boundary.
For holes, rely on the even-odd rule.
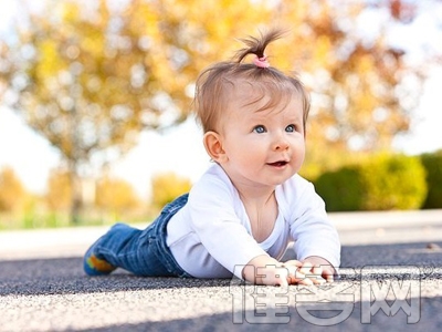
[[[190,2],[134,0],[112,9],[101,0],[87,11],[80,1],[46,1],[43,13],[23,7],[28,24],[18,25],[17,42],[0,42],[2,101],[61,152],[74,221],[81,177],[126,153],[140,131],[185,120],[202,65],[224,58],[227,37],[262,12],[244,15],[245,2]],[[217,12],[217,23],[201,17],[204,9]],[[201,18],[208,29],[194,25]]]

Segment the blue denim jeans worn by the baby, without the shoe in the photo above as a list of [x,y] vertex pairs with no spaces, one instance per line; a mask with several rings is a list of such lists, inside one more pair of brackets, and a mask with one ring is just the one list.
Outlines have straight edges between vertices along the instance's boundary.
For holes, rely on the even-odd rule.
[[[167,224],[187,204],[188,194],[165,206],[145,230],[116,224],[91,248],[99,259],[144,277],[191,277],[166,245]],[[90,249],[90,250],[91,250]]]

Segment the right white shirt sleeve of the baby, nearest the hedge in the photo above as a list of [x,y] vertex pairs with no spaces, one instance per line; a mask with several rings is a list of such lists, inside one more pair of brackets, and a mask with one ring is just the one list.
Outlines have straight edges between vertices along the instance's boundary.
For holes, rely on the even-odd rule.
[[291,179],[284,190],[290,197],[291,235],[295,240],[298,260],[319,256],[335,268],[340,264],[340,241],[327,217],[325,203],[312,183],[301,176]]

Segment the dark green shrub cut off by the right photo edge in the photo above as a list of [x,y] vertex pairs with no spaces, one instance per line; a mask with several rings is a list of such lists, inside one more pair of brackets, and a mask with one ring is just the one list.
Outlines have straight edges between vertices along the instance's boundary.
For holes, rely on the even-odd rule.
[[427,170],[428,193],[422,208],[442,208],[442,151],[421,155],[423,167]]

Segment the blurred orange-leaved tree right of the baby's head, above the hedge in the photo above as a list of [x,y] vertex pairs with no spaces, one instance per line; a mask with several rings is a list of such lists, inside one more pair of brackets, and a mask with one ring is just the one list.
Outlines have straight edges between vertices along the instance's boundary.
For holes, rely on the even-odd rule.
[[409,129],[438,54],[411,63],[410,49],[389,37],[412,22],[418,7],[399,0],[280,2],[275,19],[303,17],[288,66],[312,91],[308,160],[327,165],[324,159],[346,152],[389,151],[396,135]]

